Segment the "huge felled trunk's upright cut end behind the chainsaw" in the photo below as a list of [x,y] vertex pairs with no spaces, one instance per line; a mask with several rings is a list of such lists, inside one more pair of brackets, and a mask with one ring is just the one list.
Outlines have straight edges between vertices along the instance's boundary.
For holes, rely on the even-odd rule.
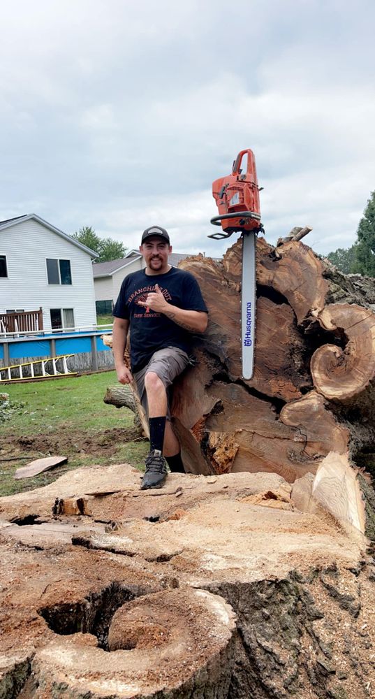
[[[275,248],[258,239],[255,368],[244,380],[241,257],[239,238],[223,261],[200,255],[180,263],[197,278],[209,309],[197,366],[173,393],[186,470],[267,471],[292,483],[315,475],[329,454],[356,473],[371,470],[375,282],[339,273],[298,240]],[[354,519],[363,521],[362,514]]]

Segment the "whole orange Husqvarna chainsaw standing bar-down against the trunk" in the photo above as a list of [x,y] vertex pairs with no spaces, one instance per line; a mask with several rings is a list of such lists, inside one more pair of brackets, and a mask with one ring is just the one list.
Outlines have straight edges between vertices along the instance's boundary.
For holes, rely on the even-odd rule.
[[[241,164],[247,155],[247,170]],[[251,379],[254,363],[255,310],[256,310],[256,236],[264,233],[260,223],[259,192],[253,151],[242,150],[233,163],[232,173],[212,183],[212,195],[219,208],[219,216],[211,223],[221,226],[209,238],[229,238],[235,231],[242,233],[242,376]]]

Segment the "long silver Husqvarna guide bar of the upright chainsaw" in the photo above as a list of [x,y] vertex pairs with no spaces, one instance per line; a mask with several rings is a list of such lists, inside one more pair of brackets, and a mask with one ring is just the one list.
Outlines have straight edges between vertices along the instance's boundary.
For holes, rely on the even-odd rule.
[[256,312],[256,233],[242,233],[241,340],[242,376],[251,379],[254,368]]

